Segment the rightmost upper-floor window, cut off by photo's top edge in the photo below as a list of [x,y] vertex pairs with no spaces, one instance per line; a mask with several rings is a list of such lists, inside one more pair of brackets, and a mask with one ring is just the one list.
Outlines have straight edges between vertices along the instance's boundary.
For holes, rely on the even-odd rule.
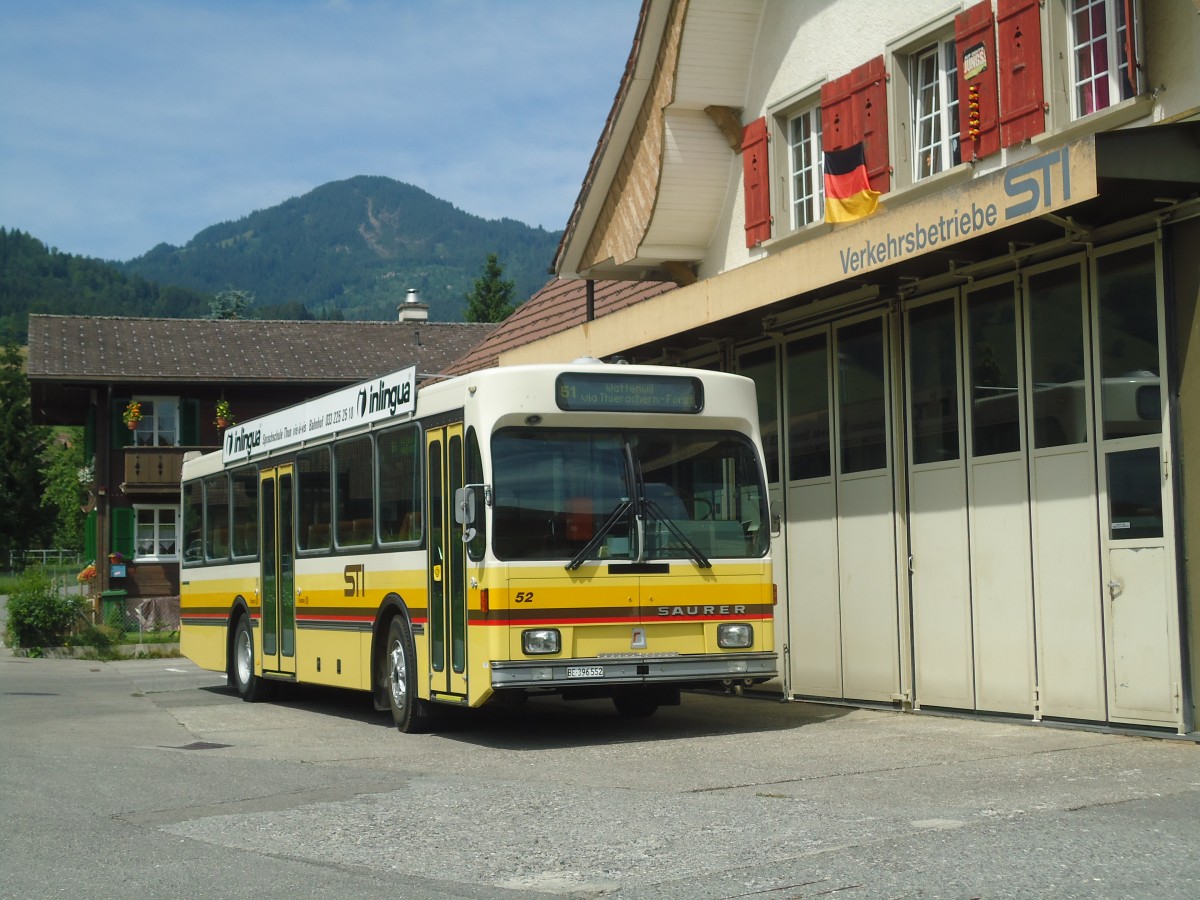
[[1132,0],[1069,0],[1067,34],[1073,119],[1105,109],[1138,92],[1134,10]]

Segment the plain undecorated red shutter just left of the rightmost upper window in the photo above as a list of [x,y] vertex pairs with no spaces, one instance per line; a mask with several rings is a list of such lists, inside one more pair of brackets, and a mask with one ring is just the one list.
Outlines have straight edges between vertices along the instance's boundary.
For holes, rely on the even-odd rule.
[[1000,143],[1012,146],[1046,130],[1038,0],[1000,0]]

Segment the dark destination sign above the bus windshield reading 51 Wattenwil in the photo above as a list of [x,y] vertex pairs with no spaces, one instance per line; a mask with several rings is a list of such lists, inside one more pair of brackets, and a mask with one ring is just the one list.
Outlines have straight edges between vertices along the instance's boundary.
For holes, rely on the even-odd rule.
[[704,407],[704,386],[691,376],[563,372],[554,398],[568,412],[695,414]]

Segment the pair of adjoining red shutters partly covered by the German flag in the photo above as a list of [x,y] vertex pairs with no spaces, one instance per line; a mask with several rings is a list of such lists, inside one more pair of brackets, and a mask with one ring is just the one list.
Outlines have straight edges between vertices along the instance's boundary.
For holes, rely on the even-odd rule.
[[892,190],[883,56],[822,85],[821,142],[827,150],[845,150],[863,142],[871,190],[880,193]]

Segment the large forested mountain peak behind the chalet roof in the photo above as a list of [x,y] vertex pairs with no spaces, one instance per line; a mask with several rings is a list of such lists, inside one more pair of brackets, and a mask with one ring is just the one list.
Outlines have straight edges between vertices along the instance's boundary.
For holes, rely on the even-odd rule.
[[118,266],[162,284],[252,290],[254,310],[304,308],[391,319],[409,288],[430,318],[460,322],[463,295],[496,253],[524,300],[547,281],[559,232],[484,220],[390,178],[360,175],[205,228],[182,247],[160,244]]

